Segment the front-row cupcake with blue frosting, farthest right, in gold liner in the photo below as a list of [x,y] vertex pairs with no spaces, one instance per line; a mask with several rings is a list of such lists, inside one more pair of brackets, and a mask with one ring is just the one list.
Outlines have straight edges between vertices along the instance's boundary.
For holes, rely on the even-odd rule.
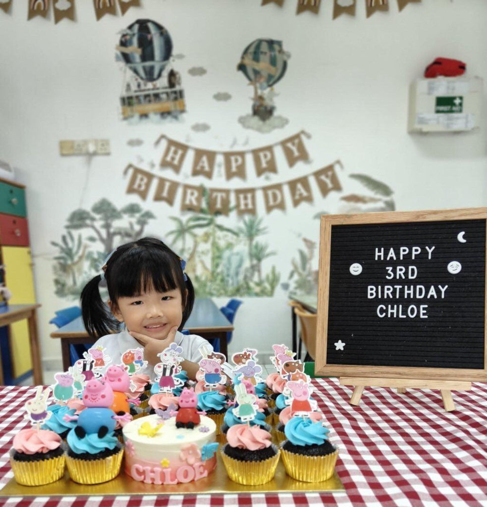
[[323,422],[293,417],[284,432],[287,440],[281,444],[281,451],[287,474],[303,482],[330,479],[338,450],[328,441],[329,429]]

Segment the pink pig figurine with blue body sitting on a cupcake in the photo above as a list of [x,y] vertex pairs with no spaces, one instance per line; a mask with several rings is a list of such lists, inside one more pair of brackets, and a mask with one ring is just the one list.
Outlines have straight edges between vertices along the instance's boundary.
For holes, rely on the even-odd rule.
[[[77,421],[74,431],[79,439],[87,434],[97,434],[102,439],[113,432],[116,421],[126,420],[127,414],[119,416],[110,408],[113,404],[113,389],[108,382],[91,379],[83,391],[85,409],[79,415],[65,415],[65,421]],[[124,419],[125,417],[125,419]]]

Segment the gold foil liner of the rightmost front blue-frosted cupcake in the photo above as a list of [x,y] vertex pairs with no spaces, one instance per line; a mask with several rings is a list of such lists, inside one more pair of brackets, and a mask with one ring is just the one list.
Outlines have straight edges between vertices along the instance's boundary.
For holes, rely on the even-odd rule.
[[338,449],[326,456],[304,456],[282,448],[284,467],[288,476],[302,482],[323,482],[330,479],[335,469]]

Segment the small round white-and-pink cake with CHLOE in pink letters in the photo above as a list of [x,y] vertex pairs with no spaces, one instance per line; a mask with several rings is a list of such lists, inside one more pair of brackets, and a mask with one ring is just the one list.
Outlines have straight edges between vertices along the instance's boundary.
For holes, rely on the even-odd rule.
[[125,473],[148,484],[197,481],[217,464],[216,424],[200,416],[193,429],[176,427],[176,417],[150,415],[123,427]]

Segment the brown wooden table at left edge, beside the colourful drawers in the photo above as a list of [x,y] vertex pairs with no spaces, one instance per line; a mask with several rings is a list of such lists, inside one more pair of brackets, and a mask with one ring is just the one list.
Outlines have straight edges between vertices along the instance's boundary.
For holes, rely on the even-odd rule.
[[[37,333],[37,309],[41,305],[8,305],[0,307],[0,327],[27,319],[29,327],[30,357],[35,385],[43,385],[41,349]],[[4,383],[2,361],[0,361],[0,384]]]

